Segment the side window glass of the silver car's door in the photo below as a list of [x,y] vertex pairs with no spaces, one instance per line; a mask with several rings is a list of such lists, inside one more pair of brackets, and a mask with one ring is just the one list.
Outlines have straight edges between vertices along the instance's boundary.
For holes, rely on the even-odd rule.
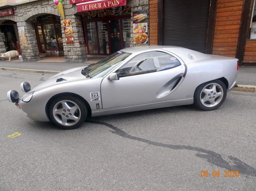
[[180,61],[172,56],[161,51],[151,51],[139,54],[129,60],[116,72],[119,77],[146,74],[151,72],[159,72],[166,69],[171,69],[180,66]]

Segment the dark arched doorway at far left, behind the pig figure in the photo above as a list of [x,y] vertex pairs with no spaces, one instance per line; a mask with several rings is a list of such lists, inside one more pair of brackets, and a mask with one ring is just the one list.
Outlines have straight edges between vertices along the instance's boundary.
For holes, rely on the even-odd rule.
[[18,29],[16,22],[7,20],[0,25],[0,29],[2,32],[3,41],[5,43],[6,52],[16,50],[12,44],[14,43],[16,45],[17,42]]

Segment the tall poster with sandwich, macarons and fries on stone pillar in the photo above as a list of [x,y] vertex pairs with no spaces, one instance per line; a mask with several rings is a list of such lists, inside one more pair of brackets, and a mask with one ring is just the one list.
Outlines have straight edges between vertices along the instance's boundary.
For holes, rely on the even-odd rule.
[[148,42],[148,10],[133,12],[133,33],[134,44]]

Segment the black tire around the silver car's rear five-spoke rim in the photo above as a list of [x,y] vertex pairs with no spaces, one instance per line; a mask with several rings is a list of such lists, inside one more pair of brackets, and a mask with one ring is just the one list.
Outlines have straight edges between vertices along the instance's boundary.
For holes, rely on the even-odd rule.
[[[217,94],[218,92],[223,91],[222,92],[223,93],[222,97],[218,96],[218,97],[215,98],[215,95],[211,94],[212,91],[209,93],[210,95],[209,94],[206,95],[204,92],[202,92],[203,89],[211,88],[213,85],[208,86],[208,85],[211,85],[211,84],[217,84],[217,85],[221,86],[222,89],[219,86],[217,86],[215,94]],[[209,89],[209,91],[210,91],[210,89]],[[211,103],[209,101],[204,102],[203,99],[202,99],[202,98],[204,98],[204,95],[208,96],[206,98],[209,99],[209,101],[211,101],[210,99],[214,98],[213,100],[214,100],[216,105],[212,104],[214,106],[211,106],[210,105]],[[223,102],[225,101],[226,96],[227,96],[227,88],[226,88],[225,84],[221,80],[213,80],[213,81],[203,83],[203,84],[201,84],[200,86],[198,86],[196,88],[195,93],[194,93],[194,104],[202,110],[211,111],[211,110],[215,110],[218,107],[220,107],[223,104]],[[221,99],[221,100],[219,100],[219,99]],[[202,102],[204,102],[204,104]]]

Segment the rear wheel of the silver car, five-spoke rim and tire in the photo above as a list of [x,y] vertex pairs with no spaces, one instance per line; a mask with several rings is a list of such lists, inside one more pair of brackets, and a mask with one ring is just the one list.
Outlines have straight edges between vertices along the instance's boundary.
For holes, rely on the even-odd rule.
[[194,94],[195,105],[206,111],[215,110],[225,101],[227,88],[221,80],[213,80],[198,86]]

